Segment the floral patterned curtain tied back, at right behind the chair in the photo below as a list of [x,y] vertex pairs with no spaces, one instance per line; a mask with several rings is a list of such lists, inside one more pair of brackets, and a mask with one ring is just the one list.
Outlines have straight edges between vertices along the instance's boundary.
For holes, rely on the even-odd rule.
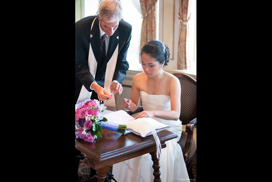
[[179,46],[177,69],[190,69],[190,59],[188,50],[188,22],[191,17],[191,0],[179,0]]

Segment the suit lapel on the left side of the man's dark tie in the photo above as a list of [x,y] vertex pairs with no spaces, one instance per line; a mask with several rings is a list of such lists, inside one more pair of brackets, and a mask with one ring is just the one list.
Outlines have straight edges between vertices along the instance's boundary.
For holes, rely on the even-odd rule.
[[[91,35],[93,37],[89,38],[92,45],[93,54],[96,61],[100,61],[100,31],[99,31],[99,20],[96,18],[93,23],[93,28],[91,30]],[[97,64],[97,68],[100,67],[100,64]]]

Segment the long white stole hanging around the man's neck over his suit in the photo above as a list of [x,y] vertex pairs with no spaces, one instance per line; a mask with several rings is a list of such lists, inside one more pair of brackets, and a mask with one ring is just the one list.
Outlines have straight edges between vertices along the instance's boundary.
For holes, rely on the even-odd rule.
[[[97,18],[97,17],[96,17]],[[96,19],[95,18],[95,19]],[[93,20],[93,23],[95,21],[95,19]],[[91,30],[93,28],[93,23],[91,26]],[[91,37],[93,37],[93,35],[91,34]],[[91,38],[90,37],[90,38]],[[118,36],[119,37],[119,36]],[[118,37],[116,37],[118,39]],[[119,45],[119,44],[118,44]],[[112,78],[113,78],[113,74],[115,71],[115,66],[116,66],[116,62],[117,62],[117,56],[118,56],[118,45],[111,57],[111,59],[109,60],[109,62],[107,63],[107,67],[106,67],[106,74],[105,74],[105,82],[104,82],[104,89],[108,92],[111,93],[111,83],[112,83]],[[97,68],[97,61],[94,57],[93,54],[93,49],[91,47],[91,43],[90,43],[90,49],[89,49],[89,57],[88,57],[88,66],[89,66],[89,71],[90,73],[93,75],[93,77],[95,78],[95,73],[96,73],[96,68]],[[93,91],[94,92],[94,91]],[[80,94],[78,96],[78,101],[77,104],[81,101],[84,101],[86,99],[90,99],[91,98],[91,94],[92,92],[89,92],[84,85],[82,85],[82,88],[80,90]],[[105,105],[107,106],[111,106],[111,107],[115,107],[115,97],[113,96],[113,98],[110,101],[106,101],[104,102]]]

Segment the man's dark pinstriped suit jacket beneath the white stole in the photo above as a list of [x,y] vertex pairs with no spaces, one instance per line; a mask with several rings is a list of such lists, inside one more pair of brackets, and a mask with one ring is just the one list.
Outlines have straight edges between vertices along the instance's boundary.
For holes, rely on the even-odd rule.
[[[110,38],[108,51],[104,60],[103,65],[100,63],[100,31],[99,31],[99,20],[95,19],[97,16],[85,17],[76,22],[76,101],[78,99],[82,84],[89,91],[91,83],[96,81],[98,85],[104,87],[106,65],[115,51],[117,44],[118,46],[118,56],[115,67],[115,72],[113,74],[113,80],[117,80],[119,83],[123,83],[126,77],[126,72],[129,68],[128,61],[126,60],[126,55],[128,52],[128,47],[131,40],[132,26],[120,20],[118,28],[115,30],[114,34]],[[93,20],[95,22],[93,23]],[[93,23],[93,28],[91,30],[91,25]],[[90,38],[90,35],[93,37]],[[116,38],[118,37],[118,39]],[[93,53],[97,63],[97,69],[95,73],[95,79],[93,75],[89,72],[88,66],[88,56],[90,43],[92,45]],[[113,81],[112,80],[112,81]],[[97,94],[95,92],[93,95]]]

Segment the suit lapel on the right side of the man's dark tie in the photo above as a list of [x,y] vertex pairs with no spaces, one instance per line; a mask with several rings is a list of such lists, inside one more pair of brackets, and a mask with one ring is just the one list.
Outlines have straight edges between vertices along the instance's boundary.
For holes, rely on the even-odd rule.
[[[101,66],[100,70],[102,70],[104,67],[107,66],[107,63],[109,62],[109,60],[111,59],[113,52],[115,51],[118,43],[119,43],[119,32],[118,32],[118,28],[115,30],[114,34],[111,36],[110,38],[110,42],[109,42],[109,47],[108,47],[108,51],[104,60],[103,65]],[[118,37],[118,38],[117,38]]]

